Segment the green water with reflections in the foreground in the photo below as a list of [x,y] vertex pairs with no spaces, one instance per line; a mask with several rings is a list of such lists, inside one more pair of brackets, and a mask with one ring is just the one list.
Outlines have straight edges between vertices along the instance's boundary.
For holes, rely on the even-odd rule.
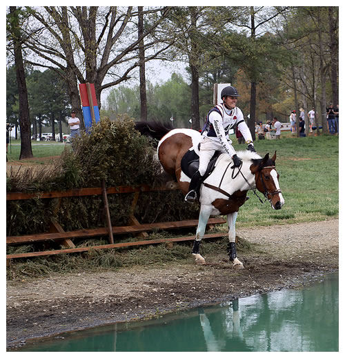
[[338,274],[303,290],[254,295],[159,319],[72,332],[22,351],[338,351]]

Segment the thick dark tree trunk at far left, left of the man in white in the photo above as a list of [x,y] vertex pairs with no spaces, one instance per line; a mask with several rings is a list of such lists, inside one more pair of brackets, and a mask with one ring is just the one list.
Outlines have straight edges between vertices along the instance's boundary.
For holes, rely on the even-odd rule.
[[19,94],[19,126],[21,130],[21,152],[19,155],[19,160],[21,160],[33,157],[30,138],[30,113],[28,90],[26,89],[26,79],[23,66],[23,56],[21,53],[21,34],[16,6],[10,6],[10,14],[12,15],[11,25],[14,44],[14,65],[16,68]]

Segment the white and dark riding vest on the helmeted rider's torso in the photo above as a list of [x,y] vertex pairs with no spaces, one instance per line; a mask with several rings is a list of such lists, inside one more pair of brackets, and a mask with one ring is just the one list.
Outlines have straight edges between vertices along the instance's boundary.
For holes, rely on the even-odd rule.
[[210,114],[215,111],[221,115],[221,118],[223,119],[223,128],[225,135],[228,136],[229,130],[233,129],[235,125],[244,122],[242,110],[235,107],[233,110],[230,111],[230,114],[226,113],[226,110],[224,108],[223,104],[217,104],[217,106],[213,107],[207,115],[206,123],[201,131],[201,135],[204,135],[206,137],[217,137],[217,133],[215,132],[215,128],[213,127],[213,124],[210,122]]

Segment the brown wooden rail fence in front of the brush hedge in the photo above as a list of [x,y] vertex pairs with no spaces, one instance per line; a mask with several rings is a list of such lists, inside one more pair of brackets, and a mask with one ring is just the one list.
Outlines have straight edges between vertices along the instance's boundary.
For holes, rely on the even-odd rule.
[[[37,257],[42,255],[57,255],[61,253],[71,252],[86,252],[89,250],[101,250],[110,248],[125,248],[130,246],[140,245],[151,245],[153,243],[166,243],[166,242],[179,242],[179,241],[190,241],[194,240],[195,236],[188,237],[173,237],[168,239],[147,239],[148,231],[151,230],[169,230],[177,228],[192,228],[196,227],[198,220],[183,220],[183,221],[169,221],[164,223],[144,223],[141,224],[135,218],[135,206],[139,198],[140,192],[154,192],[163,190],[176,190],[176,188],[169,188],[166,186],[150,188],[147,185],[141,186],[116,186],[106,188],[105,182],[102,182],[101,188],[81,188],[72,189],[66,191],[52,191],[52,192],[34,192],[34,193],[22,193],[22,192],[8,192],[6,200],[27,200],[27,199],[46,199],[46,198],[62,198],[62,197],[81,197],[87,195],[103,195],[103,203],[106,211],[106,228],[95,228],[95,229],[83,229],[65,232],[61,228],[60,224],[54,217],[50,218],[50,230],[49,232],[33,234],[33,235],[21,235],[21,236],[10,236],[6,237],[6,244],[21,244],[21,243],[34,243],[39,241],[58,241],[63,244],[66,248],[62,250],[45,250],[38,252],[26,252],[21,254],[10,254],[6,255],[6,259],[16,259],[21,257]],[[131,210],[130,217],[127,226],[112,226],[110,220],[110,212],[108,207],[108,194],[124,194],[124,193],[135,193]],[[55,213],[59,210],[59,204],[55,209]],[[215,226],[215,224],[226,223],[223,218],[210,218],[208,220],[208,228]],[[114,243],[114,235],[121,234],[135,234],[137,241]],[[76,248],[72,239],[76,238],[87,238],[87,237],[99,237],[108,235],[109,244],[99,246],[88,246]],[[224,233],[206,234],[204,239],[215,239],[224,236]]]

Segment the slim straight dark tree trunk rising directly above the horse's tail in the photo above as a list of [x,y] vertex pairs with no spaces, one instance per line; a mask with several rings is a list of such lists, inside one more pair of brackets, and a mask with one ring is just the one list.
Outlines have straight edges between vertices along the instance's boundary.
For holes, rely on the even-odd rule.
[[[138,39],[144,34],[143,7],[138,6]],[[148,105],[146,99],[145,48],[144,38],[139,42],[139,79],[140,79],[140,120],[147,121]]]

